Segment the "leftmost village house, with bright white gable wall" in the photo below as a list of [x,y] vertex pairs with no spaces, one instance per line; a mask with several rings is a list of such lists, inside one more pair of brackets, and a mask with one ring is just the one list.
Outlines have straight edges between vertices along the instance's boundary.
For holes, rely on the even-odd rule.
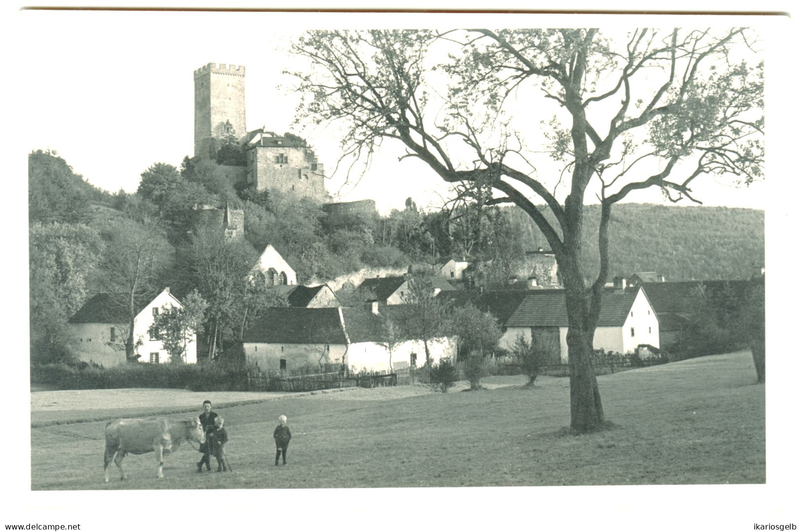
[[[170,293],[169,288],[164,288],[150,301],[136,306],[134,353],[139,361],[150,363],[170,361],[170,354],[164,349],[158,334],[153,335],[148,332],[154,317],[167,307],[183,307]],[[126,361],[125,340],[128,325],[128,312],[124,305],[119,304],[108,293],[98,293],[70,317],[67,329],[74,341],[79,360],[109,367]],[[193,333],[183,354],[184,362],[197,361],[196,347],[197,341]]]

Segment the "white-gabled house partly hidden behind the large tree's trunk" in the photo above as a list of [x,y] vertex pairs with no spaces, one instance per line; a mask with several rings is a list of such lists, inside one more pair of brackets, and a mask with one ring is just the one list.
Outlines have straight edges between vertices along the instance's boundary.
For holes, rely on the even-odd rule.
[[[615,278],[614,288],[602,295],[593,348],[618,353],[633,353],[641,344],[658,348],[659,321],[648,298],[642,287],[626,287],[625,278]],[[549,336],[559,345],[559,361],[567,363],[567,325],[565,291],[533,289],[506,321],[501,346],[511,349],[518,334],[529,341]]]

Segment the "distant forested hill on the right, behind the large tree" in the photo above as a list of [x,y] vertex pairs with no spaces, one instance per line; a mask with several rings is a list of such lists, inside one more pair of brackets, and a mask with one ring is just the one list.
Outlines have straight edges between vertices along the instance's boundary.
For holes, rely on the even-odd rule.
[[[525,249],[549,247],[525,213],[517,207],[509,210],[524,234]],[[598,271],[600,216],[600,206],[587,206],[583,265],[587,277]],[[752,266],[765,262],[763,210],[619,204],[612,210],[609,234],[610,277],[655,271],[668,281],[750,278]]]

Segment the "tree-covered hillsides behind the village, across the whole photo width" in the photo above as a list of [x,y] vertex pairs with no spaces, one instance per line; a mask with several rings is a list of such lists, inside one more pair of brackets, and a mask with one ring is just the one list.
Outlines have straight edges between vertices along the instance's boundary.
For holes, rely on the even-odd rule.
[[[179,296],[196,289],[209,315],[241,323],[236,316],[247,314],[239,303],[248,286],[234,279],[244,278],[268,243],[296,270],[299,283],[364,267],[414,266],[438,273],[437,264],[465,256],[492,260],[488,282],[501,285],[525,251],[549,247],[517,207],[425,212],[408,198],[403,210],[385,216],[334,220],[307,198],[236,187],[215,171],[213,161],[185,158],[180,168],[157,162],[143,170],[134,194],[91,186],[54,151],[34,151],[28,163],[31,349],[50,359],[64,354],[63,326],[89,297],[132,293],[131,264],[141,262],[134,250],[148,257],[147,274],[134,272],[139,295],[164,286]],[[219,237],[204,234],[194,226],[197,205],[243,210],[244,241],[229,245],[221,226]],[[598,214],[598,207],[588,207],[588,278],[598,267],[592,232]],[[637,271],[656,271],[673,281],[747,278],[753,264],[763,264],[764,213],[619,205],[610,238],[609,280]],[[203,277],[208,275],[201,262],[212,260],[207,266],[217,277]],[[235,340],[241,328],[231,324],[226,333]]]

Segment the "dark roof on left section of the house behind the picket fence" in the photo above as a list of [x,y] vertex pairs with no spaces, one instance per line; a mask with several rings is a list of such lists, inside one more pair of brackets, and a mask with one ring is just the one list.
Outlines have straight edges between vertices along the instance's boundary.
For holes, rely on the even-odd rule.
[[248,326],[242,341],[347,344],[338,308],[268,308]]

